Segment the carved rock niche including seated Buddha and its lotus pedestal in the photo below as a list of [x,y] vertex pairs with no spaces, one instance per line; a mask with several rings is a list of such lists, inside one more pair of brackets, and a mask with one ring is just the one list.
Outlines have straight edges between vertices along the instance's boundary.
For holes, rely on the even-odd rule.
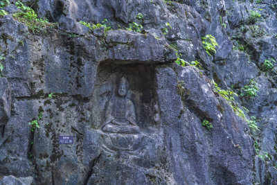
[[110,150],[136,150],[143,133],[159,124],[154,67],[101,63],[92,102],[92,128]]

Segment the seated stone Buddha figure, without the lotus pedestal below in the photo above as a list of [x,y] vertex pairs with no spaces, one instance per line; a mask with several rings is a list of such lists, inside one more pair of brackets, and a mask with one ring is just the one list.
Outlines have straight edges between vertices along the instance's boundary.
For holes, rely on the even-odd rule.
[[126,97],[128,81],[125,77],[118,81],[117,96],[111,98],[105,109],[103,132],[119,134],[137,134],[136,114],[132,100]]

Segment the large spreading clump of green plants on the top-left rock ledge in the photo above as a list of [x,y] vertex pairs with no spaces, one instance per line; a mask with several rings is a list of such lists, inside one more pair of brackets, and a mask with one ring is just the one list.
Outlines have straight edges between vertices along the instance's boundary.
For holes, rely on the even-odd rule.
[[17,6],[17,8],[19,8],[23,12],[15,13],[13,14],[13,17],[15,17],[18,21],[26,24],[26,26],[28,26],[28,28],[32,30],[33,33],[37,33],[47,27],[53,28],[56,25],[49,23],[46,18],[38,18],[35,10],[28,6],[24,6],[21,1],[17,1],[15,3],[15,6]]

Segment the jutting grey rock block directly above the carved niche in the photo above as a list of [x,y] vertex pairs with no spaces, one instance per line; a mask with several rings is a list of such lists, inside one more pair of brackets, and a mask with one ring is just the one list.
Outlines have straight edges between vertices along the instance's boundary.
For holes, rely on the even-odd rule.
[[[164,41],[151,34],[133,33],[126,30],[114,30],[107,33],[106,42],[116,44],[109,49],[109,60],[133,62],[170,62],[176,59],[172,49]],[[149,44],[151,43],[151,44]]]

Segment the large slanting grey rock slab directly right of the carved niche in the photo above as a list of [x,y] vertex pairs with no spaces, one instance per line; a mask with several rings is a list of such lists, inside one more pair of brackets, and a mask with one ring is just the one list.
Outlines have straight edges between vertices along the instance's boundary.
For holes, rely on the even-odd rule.
[[[172,69],[159,69],[157,73],[161,124],[166,128],[164,134],[170,144],[170,164],[175,166],[172,170],[177,184],[184,179],[188,184],[251,183],[253,150],[250,136],[244,135],[247,124],[230,114],[231,107],[215,97],[211,83],[197,70],[178,67],[177,71],[178,80],[183,80],[179,81],[179,85],[184,85],[183,97],[177,94],[179,85]],[[204,118],[213,124],[211,132],[202,127]],[[218,173],[218,168],[222,174]]]

